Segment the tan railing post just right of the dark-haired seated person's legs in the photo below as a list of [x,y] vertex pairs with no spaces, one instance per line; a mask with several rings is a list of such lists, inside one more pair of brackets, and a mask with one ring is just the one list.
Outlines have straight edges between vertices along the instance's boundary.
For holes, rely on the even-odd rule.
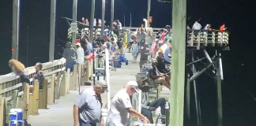
[[43,80],[43,88],[40,90],[40,105],[39,109],[47,109],[47,89],[48,89],[48,80]]

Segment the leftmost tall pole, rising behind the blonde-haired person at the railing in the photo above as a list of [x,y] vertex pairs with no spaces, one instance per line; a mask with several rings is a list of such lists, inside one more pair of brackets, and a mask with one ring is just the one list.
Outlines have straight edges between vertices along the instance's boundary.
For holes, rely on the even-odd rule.
[[20,0],[13,0],[12,59],[18,60],[19,53]]

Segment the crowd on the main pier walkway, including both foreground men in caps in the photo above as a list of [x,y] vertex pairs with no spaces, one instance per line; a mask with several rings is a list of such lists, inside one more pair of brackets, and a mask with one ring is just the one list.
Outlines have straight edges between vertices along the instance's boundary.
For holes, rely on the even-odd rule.
[[[86,19],[85,24],[88,24]],[[95,38],[92,43],[88,42],[88,39],[83,39],[80,43],[75,43],[74,45],[70,42],[66,43],[66,48],[62,54],[62,56],[66,58],[66,70],[70,69],[70,72],[73,72],[73,65],[84,64],[85,61],[91,61],[92,58],[99,56],[98,54],[104,50],[109,50],[111,55],[130,52],[134,56],[134,63],[137,62],[137,56],[141,55],[139,63],[141,72],[142,68],[147,65],[151,59],[154,59],[152,60],[152,69],[149,69],[150,78],[152,78],[154,83],[160,83],[171,89],[169,83],[170,71],[166,66],[167,64],[170,65],[171,62],[170,29],[160,31],[157,35],[157,39],[154,39],[152,42],[152,31],[144,28],[143,25],[141,25],[141,28],[137,29],[137,31],[131,32],[120,28],[120,24],[119,20],[115,20],[115,30],[111,31],[109,35],[103,35],[100,39]],[[150,39],[146,40],[146,38]],[[130,50],[132,50],[132,52]],[[166,54],[166,52],[169,53]],[[13,69],[14,73],[21,77],[21,83],[30,83],[28,76],[24,75],[24,65],[22,65],[21,62],[11,60],[9,61],[9,66]],[[44,80],[43,72],[41,71],[43,65],[36,63],[35,69],[36,73],[33,78],[35,81],[40,82],[41,89]],[[153,123],[149,111],[159,106],[162,108],[165,105],[163,98],[152,103],[143,100],[144,105],[149,107],[145,107],[148,109],[142,109],[141,113],[133,109],[130,102],[130,96],[134,95],[138,90],[141,90],[144,83],[143,81],[129,81],[126,87],[115,95],[111,100],[111,108],[107,116],[106,124],[104,124],[101,117],[102,102],[100,94],[107,92],[107,83],[104,80],[97,81],[94,87],[82,91],[81,95],[78,96],[77,102],[73,106],[74,125],[96,126],[96,123],[101,123],[101,125],[107,126],[126,126],[130,115],[141,118],[145,123]],[[33,90],[33,86],[30,86],[30,90]],[[162,114],[165,115],[165,110],[163,109],[162,111]]]

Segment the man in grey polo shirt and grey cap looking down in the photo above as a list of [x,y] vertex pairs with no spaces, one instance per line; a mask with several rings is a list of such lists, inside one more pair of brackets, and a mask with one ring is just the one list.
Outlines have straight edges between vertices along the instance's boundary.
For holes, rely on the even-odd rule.
[[94,87],[90,87],[81,92],[77,102],[73,106],[74,126],[96,126],[96,123],[104,125],[101,117],[100,95],[108,92],[105,80],[99,80]]

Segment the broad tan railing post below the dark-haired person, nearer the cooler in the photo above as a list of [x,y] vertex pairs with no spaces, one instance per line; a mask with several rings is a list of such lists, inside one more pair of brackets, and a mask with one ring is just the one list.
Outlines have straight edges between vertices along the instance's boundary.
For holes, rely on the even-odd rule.
[[34,90],[33,93],[30,94],[30,106],[28,109],[28,113],[30,115],[35,115],[38,113],[39,108],[39,82],[34,81]]

